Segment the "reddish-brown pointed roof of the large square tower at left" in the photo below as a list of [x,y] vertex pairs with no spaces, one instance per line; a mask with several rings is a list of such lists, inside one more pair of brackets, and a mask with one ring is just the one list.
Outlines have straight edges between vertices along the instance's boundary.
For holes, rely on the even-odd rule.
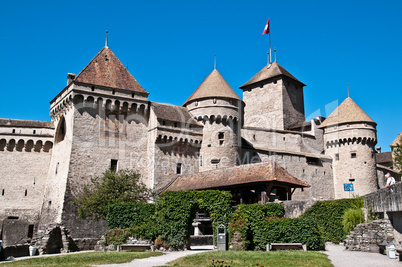
[[88,63],[74,81],[148,94],[107,46]]

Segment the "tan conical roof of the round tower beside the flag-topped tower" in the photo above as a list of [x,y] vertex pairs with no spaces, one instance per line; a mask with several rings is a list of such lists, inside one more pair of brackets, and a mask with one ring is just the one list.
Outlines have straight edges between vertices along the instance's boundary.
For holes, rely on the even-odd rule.
[[183,106],[196,99],[212,97],[228,97],[241,100],[222,75],[217,70],[213,70],[186,102],[184,102]]

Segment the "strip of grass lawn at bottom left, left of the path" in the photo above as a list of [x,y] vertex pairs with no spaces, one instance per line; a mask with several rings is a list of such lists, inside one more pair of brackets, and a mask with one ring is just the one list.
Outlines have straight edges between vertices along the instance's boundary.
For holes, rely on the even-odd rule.
[[7,262],[0,266],[90,266],[130,262],[134,259],[160,256],[161,252],[88,252]]

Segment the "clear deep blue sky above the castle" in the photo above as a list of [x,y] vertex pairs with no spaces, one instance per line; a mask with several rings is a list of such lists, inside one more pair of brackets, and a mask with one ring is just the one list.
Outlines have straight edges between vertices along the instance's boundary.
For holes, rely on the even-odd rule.
[[271,19],[278,62],[303,83],[306,117],[347,97],[402,131],[402,1],[2,1],[0,118],[50,120],[49,101],[109,47],[150,93],[181,105],[213,70],[239,86],[264,65]]

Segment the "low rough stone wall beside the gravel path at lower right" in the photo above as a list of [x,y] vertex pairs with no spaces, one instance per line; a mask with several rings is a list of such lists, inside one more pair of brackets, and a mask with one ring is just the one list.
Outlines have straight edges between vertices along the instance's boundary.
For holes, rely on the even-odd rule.
[[389,220],[361,223],[350,232],[344,241],[346,250],[379,252],[378,244],[394,239],[394,229]]

